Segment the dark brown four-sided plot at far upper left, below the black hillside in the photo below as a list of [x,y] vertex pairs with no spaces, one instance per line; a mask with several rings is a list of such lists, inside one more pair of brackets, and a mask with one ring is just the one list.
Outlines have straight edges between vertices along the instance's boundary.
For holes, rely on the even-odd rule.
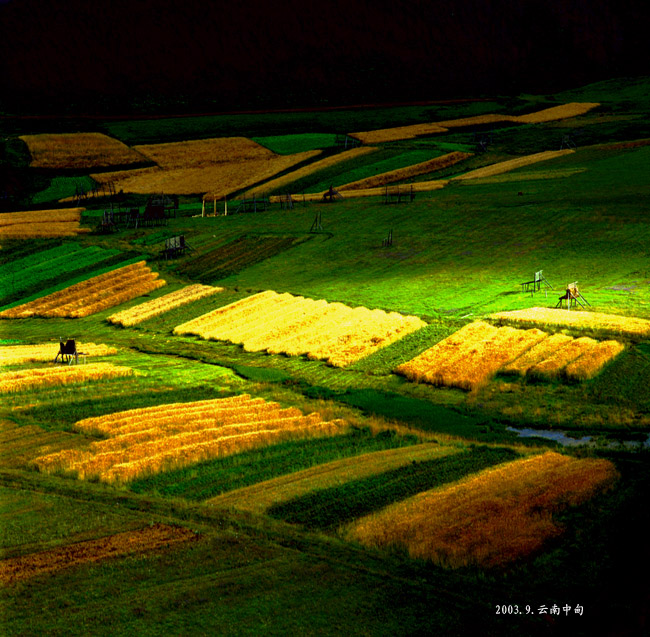
[[32,168],[108,168],[147,160],[122,142],[102,133],[22,135]]

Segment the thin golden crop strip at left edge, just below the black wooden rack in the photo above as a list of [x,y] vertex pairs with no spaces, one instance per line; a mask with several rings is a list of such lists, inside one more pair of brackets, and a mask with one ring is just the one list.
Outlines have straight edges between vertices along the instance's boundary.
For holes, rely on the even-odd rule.
[[130,376],[130,367],[111,365],[110,363],[89,363],[61,367],[37,367],[17,372],[0,373],[0,393],[25,391],[51,385],[68,385],[87,380]]

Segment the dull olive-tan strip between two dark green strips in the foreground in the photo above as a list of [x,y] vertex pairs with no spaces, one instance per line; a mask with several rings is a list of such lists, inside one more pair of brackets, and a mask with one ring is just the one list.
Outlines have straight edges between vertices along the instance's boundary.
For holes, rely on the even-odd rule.
[[207,503],[220,508],[264,513],[272,506],[300,498],[312,491],[329,489],[351,480],[390,471],[412,462],[458,453],[460,449],[425,443],[411,447],[375,451],[373,453],[335,460],[326,464],[267,480],[236,491],[230,491]]

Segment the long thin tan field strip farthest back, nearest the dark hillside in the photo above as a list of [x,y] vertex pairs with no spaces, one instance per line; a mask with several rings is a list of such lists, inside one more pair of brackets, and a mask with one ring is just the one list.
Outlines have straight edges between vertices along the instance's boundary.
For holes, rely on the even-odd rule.
[[425,124],[413,124],[410,126],[396,126],[394,128],[383,128],[374,131],[363,131],[359,133],[350,133],[350,137],[355,137],[364,144],[380,144],[402,139],[414,139],[425,135],[436,135],[446,133],[450,128],[462,128],[468,126],[484,126],[486,124],[498,124],[514,122],[518,124],[540,124],[560,119],[568,119],[584,115],[588,111],[600,106],[596,102],[571,102],[545,108],[528,115],[499,115],[488,113],[486,115],[477,115],[474,117],[462,117],[459,119],[450,119],[440,122],[430,122]]

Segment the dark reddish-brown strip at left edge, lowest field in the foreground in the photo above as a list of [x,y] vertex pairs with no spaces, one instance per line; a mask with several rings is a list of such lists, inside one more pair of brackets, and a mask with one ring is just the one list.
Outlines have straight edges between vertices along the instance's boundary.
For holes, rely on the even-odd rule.
[[68,544],[49,551],[30,553],[0,561],[0,581],[5,584],[23,581],[44,573],[56,573],[82,564],[164,550],[173,544],[189,542],[198,536],[189,529],[154,524],[137,531],[127,531],[97,540]]

